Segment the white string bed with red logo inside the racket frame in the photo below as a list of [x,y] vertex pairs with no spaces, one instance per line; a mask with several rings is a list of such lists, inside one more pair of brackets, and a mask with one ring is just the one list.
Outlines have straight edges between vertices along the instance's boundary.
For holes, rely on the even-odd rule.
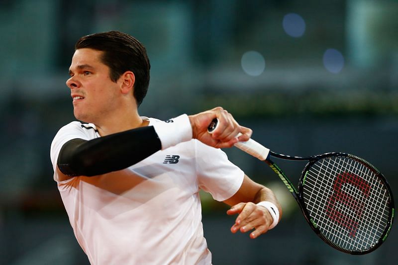
[[316,162],[307,172],[303,197],[322,235],[347,250],[365,250],[388,224],[384,184],[364,164],[346,157]]

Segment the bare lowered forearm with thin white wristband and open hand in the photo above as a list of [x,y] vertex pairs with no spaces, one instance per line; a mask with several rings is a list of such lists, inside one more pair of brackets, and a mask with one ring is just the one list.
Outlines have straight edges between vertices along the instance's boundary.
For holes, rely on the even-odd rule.
[[274,192],[246,175],[239,190],[224,202],[232,206],[227,211],[228,215],[238,214],[231,232],[245,233],[254,229],[250,238],[266,233],[282,217],[282,208]]

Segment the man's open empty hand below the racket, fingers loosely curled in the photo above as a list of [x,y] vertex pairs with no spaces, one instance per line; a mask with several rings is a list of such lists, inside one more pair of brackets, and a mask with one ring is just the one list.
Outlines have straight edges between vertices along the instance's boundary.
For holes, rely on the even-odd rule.
[[235,220],[235,224],[231,227],[231,232],[240,231],[246,233],[255,229],[250,233],[250,238],[256,238],[268,231],[273,223],[270,212],[263,206],[254,204],[253,202],[241,202],[231,207],[227,211],[228,215],[239,214]]

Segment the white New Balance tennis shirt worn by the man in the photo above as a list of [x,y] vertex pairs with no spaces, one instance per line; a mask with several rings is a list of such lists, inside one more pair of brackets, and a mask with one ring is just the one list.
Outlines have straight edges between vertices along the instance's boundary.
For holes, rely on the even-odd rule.
[[[165,123],[149,121],[155,130]],[[97,137],[94,124],[74,121],[58,131],[50,152],[69,221],[90,263],[211,264],[199,189],[223,201],[236,193],[244,173],[221,150],[190,140],[125,170],[59,181],[56,167],[63,144]]]

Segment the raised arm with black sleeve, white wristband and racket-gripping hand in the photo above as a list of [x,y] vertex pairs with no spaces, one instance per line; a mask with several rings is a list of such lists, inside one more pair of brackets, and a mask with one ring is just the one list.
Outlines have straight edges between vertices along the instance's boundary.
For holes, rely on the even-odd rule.
[[[207,133],[211,120],[219,120],[213,134]],[[173,122],[158,122],[93,140],[72,139],[66,142],[57,159],[59,180],[75,176],[97,176],[128,168],[159,150],[192,138],[215,148],[231,147],[246,141],[251,130],[240,126],[226,110],[216,107],[196,115],[181,115]]]

